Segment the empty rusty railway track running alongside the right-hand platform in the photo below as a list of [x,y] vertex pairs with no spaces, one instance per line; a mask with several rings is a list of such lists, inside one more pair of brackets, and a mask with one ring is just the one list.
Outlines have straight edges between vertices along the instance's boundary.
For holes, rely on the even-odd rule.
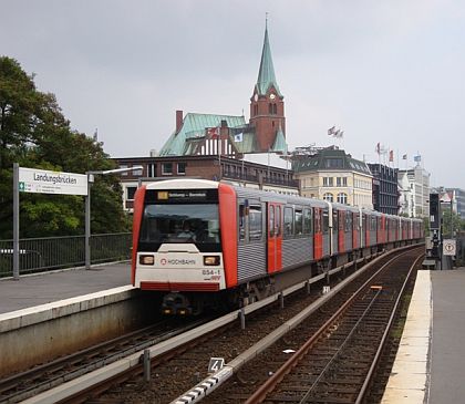
[[[223,403],[246,404],[374,402],[373,395],[380,397],[382,390],[379,381],[374,383],[376,364],[418,256],[417,250],[410,251],[384,266],[340,309],[333,313],[328,310],[321,327],[316,330],[314,324],[321,315],[309,318],[292,335],[207,396],[205,403],[218,402],[219,397]],[[296,353],[289,359],[285,348]],[[245,374],[256,377],[246,379]],[[375,392],[366,401],[373,383]]]

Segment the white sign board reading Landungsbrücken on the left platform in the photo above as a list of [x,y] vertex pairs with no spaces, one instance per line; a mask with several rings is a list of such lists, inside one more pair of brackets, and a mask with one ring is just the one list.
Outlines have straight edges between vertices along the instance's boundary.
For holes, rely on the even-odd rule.
[[86,196],[87,176],[85,174],[19,167],[18,188],[20,193]]

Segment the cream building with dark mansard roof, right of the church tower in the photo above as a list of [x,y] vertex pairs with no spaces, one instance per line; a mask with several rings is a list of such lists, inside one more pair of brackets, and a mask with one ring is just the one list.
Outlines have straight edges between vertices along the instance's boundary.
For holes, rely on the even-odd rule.
[[335,147],[292,160],[301,196],[373,209],[373,176],[364,162]]

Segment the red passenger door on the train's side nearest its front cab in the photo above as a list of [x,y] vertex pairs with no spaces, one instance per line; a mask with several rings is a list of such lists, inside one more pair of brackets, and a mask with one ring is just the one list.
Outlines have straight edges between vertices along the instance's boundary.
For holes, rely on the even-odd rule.
[[282,268],[282,206],[268,204],[267,265],[268,272],[277,272]]

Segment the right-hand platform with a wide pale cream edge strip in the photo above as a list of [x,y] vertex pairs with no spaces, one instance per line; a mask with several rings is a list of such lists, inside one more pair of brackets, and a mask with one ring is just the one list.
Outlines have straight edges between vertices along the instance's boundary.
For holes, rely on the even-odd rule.
[[463,403],[465,268],[418,271],[383,404]]

